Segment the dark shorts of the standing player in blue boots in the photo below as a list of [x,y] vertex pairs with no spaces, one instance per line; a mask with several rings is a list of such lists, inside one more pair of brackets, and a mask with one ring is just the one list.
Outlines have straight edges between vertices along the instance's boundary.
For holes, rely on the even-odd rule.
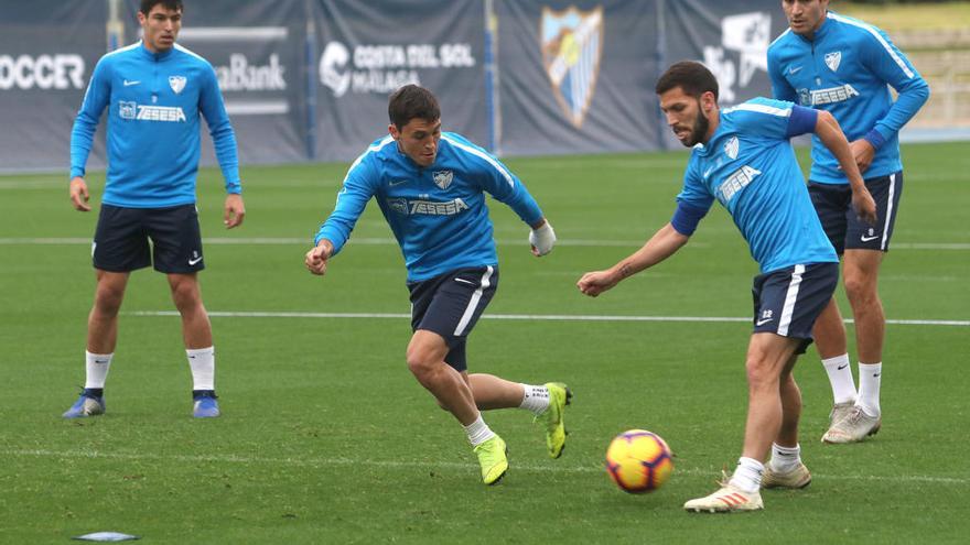
[[95,269],[110,272],[134,271],[152,263],[163,273],[202,271],[205,263],[195,205],[122,208],[103,204],[91,261]]

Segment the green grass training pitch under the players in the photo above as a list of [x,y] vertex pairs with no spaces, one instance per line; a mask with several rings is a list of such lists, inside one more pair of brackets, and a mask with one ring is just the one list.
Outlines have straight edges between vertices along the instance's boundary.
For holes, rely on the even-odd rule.
[[[202,286],[224,412],[205,422],[190,416],[179,319],[160,314],[173,306],[150,271],[129,283],[108,414],[60,417],[84,381],[96,211],[73,211],[66,174],[0,177],[0,543],[96,531],[179,544],[966,543],[967,145],[904,148],[881,276],[890,319],[956,324],[887,326],[883,429],[860,445],[819,443],[831,396],[810,349],[796,375],[815,480],[767,491],[765,511],[736,515],[681,505],[711,492],[740,455],[750,324],[549,318],[750,316],[756,266],[719,207],[666,263],[597,299],[574,287],[669,219],[686,157],[507,161],[561,243],[532,258],[527,228],[491,201],[502,283],[471,337],[471,370],[564,381],[575,399],[559,460],[527,413],[486,414],[510,449],[494,488],[481,484],[462,429],[407,370],[409,323],[395,317],[408,313],[405,269],[376,206],[324,279],[303,268],[346,164],[244,167],[248,214],[233,231],[222,226],[218,172],[201,173]],[[95,204],[103,179],[89,178]],[[840,301],[848,314],[841,288]],[[536,317],[497,319],[526,315]],[[676,455],[670,481],[642,497],[621,492],[602,467],[610,439],[633,427],[660,434]]]

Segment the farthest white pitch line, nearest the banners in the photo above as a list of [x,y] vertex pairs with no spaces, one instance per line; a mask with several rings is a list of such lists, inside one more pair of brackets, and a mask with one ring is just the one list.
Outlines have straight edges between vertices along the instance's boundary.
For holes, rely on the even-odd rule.
[[[32,238],[32,237],[23,237],[23,238],[0,238],[0,246],[33,246],[33,244],[90,244],[91,239],[89,238],[77,238],[77,237],[48,237],[48,238]],[[522,246],[522,241],[519,239],[498,239],[496,240],[499,244],[503,246]],[[313,239],[310,237],[298,238],[298,237],[239,237],[239,238],[225,238],[225,237],[214,237],[214,238],[205,238],[203,239],[203,243],[205,244],[255,244],[255,246],[311,246],[313,243]],[[390,237],[360,237],[353,238],[349,244],[366,244],[366,246],[396,246],[398,242],[394,238]],[[560,239],[556,242],[557,246],[564,247],[619,247],[619,248],[639,248],[644,244],[643,240],[597,240],[597,239]],[[693,242],[691,243],[691,248],[711,248],[712,244],[705,242]],[[949,250],[949,251],[968,251],[970,250],[970,243],[963,242],[894,242],[891,247],[891,250]]]

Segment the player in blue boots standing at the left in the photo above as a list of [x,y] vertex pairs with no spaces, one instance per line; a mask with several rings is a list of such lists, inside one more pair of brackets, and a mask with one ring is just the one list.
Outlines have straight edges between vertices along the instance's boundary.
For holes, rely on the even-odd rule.
[[89,211],[85,164],[98,120],[108,108],[107,184],[91,243],[97,290],[87,326],[87,379],[65,418],[105,412],[105,379],[128,275],[150,264],[168,276],[182,315],[193,415],[219,415],[212,326],[196,276],[205,268],[195,208],[200,113],[208,123],[226,181],[224,224],[229,229],[246,214],[236,137],[212,65],[175,43],[182,1],[142,0],[138,21],[143,39],[101,57],[71,133],[71,201],[77,210]]

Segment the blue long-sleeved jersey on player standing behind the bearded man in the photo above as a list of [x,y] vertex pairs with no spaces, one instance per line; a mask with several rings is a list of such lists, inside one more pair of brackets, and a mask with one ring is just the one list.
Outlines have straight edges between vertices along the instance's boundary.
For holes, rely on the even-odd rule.
[[[850,142],[876,149],[866,178],[903,170],[899,129],[929,98],[929,86],[881,30],[828,12],[812,40],[786,30],[768,47],[775,98],[828,110]],[[899,94],[894,102],[887,85]],[[812,137],[811,175],[823,184],[848,184],[839,162]]]

